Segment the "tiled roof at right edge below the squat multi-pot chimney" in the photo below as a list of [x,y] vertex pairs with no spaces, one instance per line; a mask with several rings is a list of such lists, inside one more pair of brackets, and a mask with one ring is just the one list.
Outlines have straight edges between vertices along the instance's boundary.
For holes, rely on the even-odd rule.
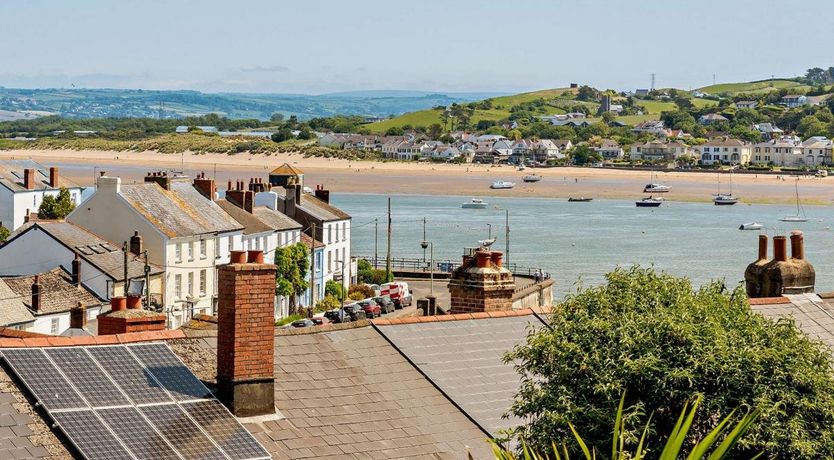
[[[787,302],[781,300],[784,298]],[[750,308],[754,311],[772,319],[792,317],[803,332],[834,351],[834,299],[817,294],[794,294],[772,299],[769,303],[750,300]]]

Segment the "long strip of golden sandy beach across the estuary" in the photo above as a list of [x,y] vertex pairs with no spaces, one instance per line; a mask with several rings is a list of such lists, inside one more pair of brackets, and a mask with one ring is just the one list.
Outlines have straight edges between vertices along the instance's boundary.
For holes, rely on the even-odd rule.
[[[324,184],[336,193],[638,199],[645,196],[643,186],[651,181],[648,171],[560,167],[520,172],[507,165],[348,161],[304,158],[301,154],[8,150],[0,151],[0,158],[31,158],[45,166],[59,166],[62,175],[84,185],[91,184],[99,171],[118,175],[129,183],[142,180],[149,171],[183,170],[188,175],[204,171],[217,178],[220,188],[225,188],[228,180],[265,177],[283,163],[302,169],[305,184]],[[521,178],[527,173],[541,175],[542,180],[526,184]],[[699,172],[661,172],[656,181],[672,187],[671,193],[664,194],[668,200],[707,202],[718,191],[718,176]],[[517,185],[511,190],[491,190],[489,185],[499,179]],[[729,175],[721,175],[721,181],[722,191],[727,192]],[[769,174],[734,174],[733,192],[745,203],[791,203],[795,200],[793,182],[790,177],[777,178]],[[804,204],[832,204],[834,178],[803,177],[799,180],[799,192]]]

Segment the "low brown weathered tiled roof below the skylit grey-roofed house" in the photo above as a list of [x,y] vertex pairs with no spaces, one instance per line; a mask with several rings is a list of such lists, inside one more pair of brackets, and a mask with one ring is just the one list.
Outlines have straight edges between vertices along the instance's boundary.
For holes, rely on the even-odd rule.
[[2,281],[23,300],[26,307],[36,316],[67,312],[78,302],[86,307],[98,306],[103,303],[101,299],[85,287],[76,287],[72,284],[70,276],[63,269],[55,268],[37,275],[38,283],[41,285],[41,308],[34,311],[32,309],[32,283],[35,281],[35,276],[5,277],[2,278]]

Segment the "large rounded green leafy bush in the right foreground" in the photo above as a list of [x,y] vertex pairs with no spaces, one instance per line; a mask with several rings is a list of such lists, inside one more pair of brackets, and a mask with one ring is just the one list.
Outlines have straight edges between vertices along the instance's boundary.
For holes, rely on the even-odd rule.
[[[653,413],[656,429],[670,432],[695,394],[704,403],[687,442],[703,438],[727,408],[759,407],[739,442],[742,458],[834,457],[834,372],[821,342],[790,319],[752,311],[741,287],[694,289],[688,279],[640,267],[606,277],[566,297],[551,327],[507,355],[522,376],[511,409],[529,420],[515,433],[521,439],[546,447],[570,436],[572,423],[601,445],[622,392],[626,419]],[[624,436],[633,442],[640,434]]]

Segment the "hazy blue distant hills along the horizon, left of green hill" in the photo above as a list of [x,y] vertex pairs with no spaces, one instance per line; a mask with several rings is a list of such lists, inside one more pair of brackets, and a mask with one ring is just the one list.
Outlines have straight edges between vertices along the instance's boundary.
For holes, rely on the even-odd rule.
[[[202,93],[122,89],[15,89],[0,87],[0,111],[57,114],[72,118],[179,118],[217,113],[232,119],[269,119],[274,113],[300,119],[332,115],[385,117],[470,102],[495,93],[435,93],[425,91],[353,91],[323,95]],[[1,112],[6,113],[6,112]],[[31,116],[31,115],[30,115]]]

